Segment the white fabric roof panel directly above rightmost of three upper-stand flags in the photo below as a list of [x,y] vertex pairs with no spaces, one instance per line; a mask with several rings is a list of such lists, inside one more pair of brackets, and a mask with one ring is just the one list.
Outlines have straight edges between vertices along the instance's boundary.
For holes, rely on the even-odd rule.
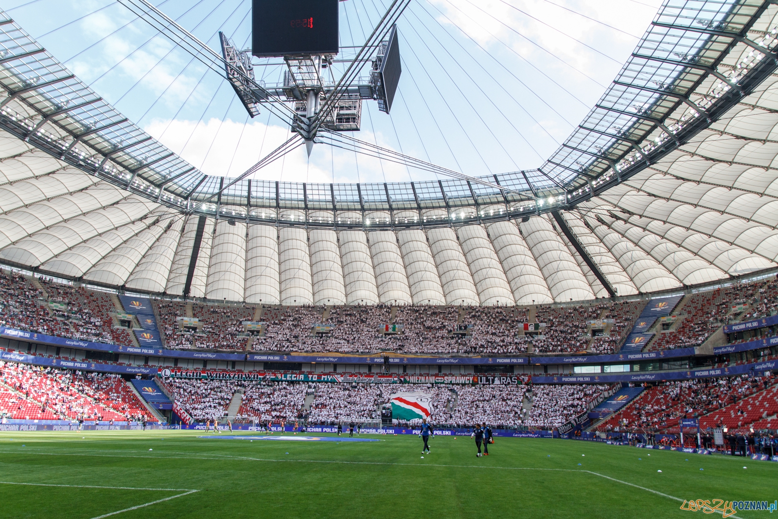
[[513,222],[497,222],[488,226],[492,244],[513,289],[517,304],[553,303],[538,262],[527,247]]

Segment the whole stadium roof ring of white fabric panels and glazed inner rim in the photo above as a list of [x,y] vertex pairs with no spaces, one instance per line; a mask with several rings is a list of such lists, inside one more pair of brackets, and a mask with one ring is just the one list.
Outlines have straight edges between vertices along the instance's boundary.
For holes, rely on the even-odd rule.
[[[0,261],[250,303],[548,303],[776,266],[778,7],[668,0],[538,170],[205,175],[0,21]],[[193,253],[194,251],[194,253]],[[196,261],[192,261],[192,260]]]

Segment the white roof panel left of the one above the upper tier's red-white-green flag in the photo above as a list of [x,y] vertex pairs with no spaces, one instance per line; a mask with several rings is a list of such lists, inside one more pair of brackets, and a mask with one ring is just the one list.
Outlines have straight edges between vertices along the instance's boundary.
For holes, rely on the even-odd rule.
[[366,233],[361,230],[344,230],[339,237],[346,304],[378,303],[376,274]]

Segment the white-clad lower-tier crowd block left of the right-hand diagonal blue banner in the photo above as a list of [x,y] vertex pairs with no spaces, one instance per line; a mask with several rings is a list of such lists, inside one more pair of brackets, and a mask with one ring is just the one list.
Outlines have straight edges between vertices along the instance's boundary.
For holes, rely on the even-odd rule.
[[586,411],[589,402],[607,389],[604,384],[535,384],[532,387],[532,408],[524,424],[538,429],[559,427]]

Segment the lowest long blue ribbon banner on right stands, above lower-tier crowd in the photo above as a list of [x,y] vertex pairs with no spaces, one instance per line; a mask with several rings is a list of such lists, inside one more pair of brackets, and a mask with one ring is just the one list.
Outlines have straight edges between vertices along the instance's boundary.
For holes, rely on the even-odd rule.
[[764,374],[778,370],[778,360],[761,363],[741,364],[704,370],[629,372],[612,375],[556,375],[553,377],[532,377],[533,384],[604,384],[609,382],[656,382],[660,380],[688,380],[693,378],[730,377],[731,375]]

